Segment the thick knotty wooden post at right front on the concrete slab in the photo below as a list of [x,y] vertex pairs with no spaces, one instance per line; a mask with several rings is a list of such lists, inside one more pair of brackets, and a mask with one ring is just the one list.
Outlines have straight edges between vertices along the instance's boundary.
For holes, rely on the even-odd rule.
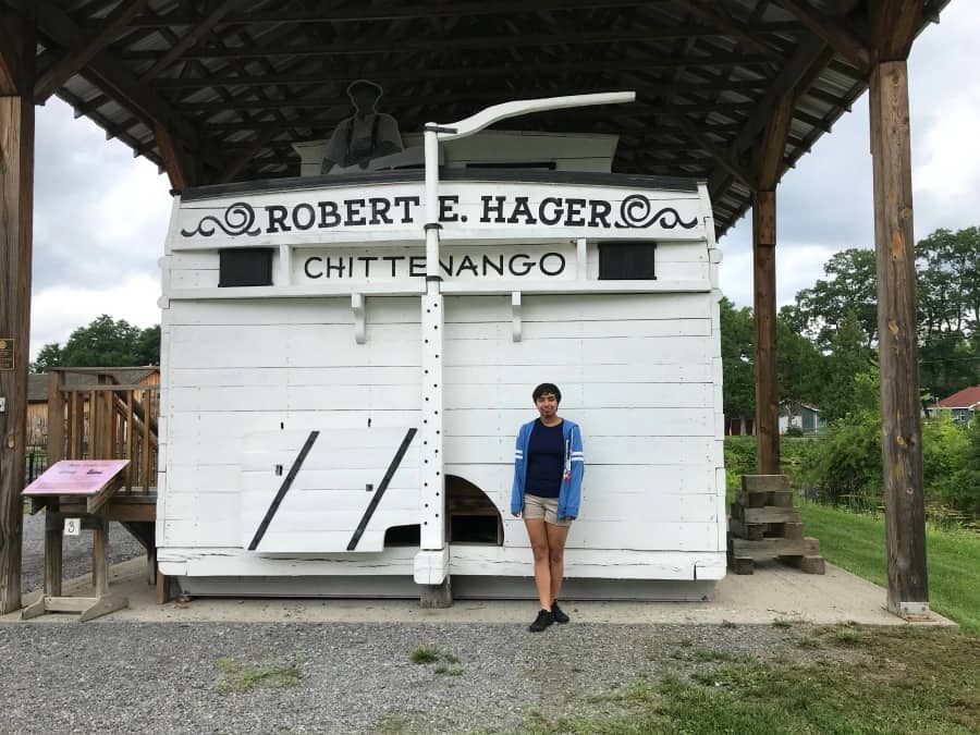
[[907,62],[871,72],[889,610],[928,610]]

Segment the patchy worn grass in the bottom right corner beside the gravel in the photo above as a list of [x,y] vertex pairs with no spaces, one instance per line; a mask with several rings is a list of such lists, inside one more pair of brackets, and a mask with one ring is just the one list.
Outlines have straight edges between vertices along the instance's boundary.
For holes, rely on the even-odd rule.
[[689,679],[640,677],[618,698],[625,711],[548,720],[552,733],[822,733],[904,735],[980,732],[980,637],[967,632],[843,626],[855,656],[799,664],[739,659]]

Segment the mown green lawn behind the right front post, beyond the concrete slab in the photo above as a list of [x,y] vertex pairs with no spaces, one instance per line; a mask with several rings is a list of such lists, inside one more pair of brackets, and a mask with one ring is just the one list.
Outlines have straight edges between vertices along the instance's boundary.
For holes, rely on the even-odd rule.
[[[859,577],[885,586],[884,518],[800,503],[807,536],[820,539],[823,556]],[[928,528],[929,604],[980,633],[980,535]]]

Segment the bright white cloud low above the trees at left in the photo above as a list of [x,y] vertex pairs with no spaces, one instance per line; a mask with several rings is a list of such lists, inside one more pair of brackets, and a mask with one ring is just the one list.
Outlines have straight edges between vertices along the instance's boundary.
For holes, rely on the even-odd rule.
[[53,285],[34,295],[30,315],[30,359],[50,342],[64,344],[78,327],[108,314],[146,329],[160,323],[160,281],[147,273],[130,273],[108,289]]

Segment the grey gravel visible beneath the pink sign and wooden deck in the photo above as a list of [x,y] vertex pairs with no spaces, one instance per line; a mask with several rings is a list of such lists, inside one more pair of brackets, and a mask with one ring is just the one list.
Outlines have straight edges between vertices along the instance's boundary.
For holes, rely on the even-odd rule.
[[[64,578],[81,577],[91,572],[91,531],[78,536],[65,536],[62,551]],[[45,514],[24,516],[24,561],[21,572],[21,590],[29,592],[40,589],[45,581]],[[109,556],[111,564],[124,562],[134,556],[144,556],[146,551],[139,541],[130,536],[122,524],[109,524]]]

